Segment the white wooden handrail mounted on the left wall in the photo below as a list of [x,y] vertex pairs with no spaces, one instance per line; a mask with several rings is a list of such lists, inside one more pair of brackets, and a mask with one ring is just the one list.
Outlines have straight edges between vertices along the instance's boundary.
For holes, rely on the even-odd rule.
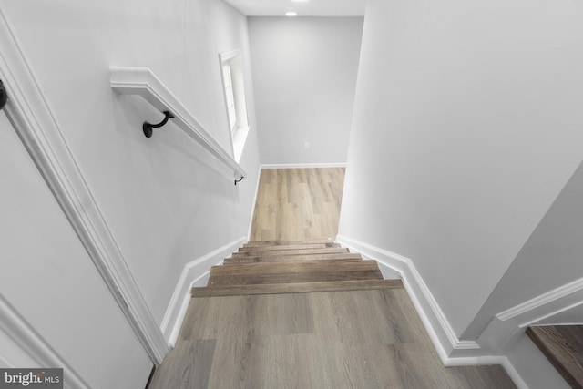
[[148,67],[109,67],[111,88],[122,95],[138,95],[160,112],[171,112],[172,122],[182,129],[190,138],[199,142],[202,147],[220,159],[235,174],[235,185],[247,176],[245,170],[212,138],[202,127],[199,120],[190,114],[169,88],[159,80]]

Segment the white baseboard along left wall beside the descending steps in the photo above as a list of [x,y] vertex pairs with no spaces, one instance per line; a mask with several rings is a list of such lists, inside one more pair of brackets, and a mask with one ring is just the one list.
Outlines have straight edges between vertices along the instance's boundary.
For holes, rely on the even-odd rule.
[[174,347],[178,338],[180,326],[189,306],[190,289],[193,286],[205,286],[206,280],[209,278],[210,267],[229,257],[245,241],[247,241],[246,237],[230,241],[184,266],[160,324],[160,331],[164,334],[164,339],[170,347]]

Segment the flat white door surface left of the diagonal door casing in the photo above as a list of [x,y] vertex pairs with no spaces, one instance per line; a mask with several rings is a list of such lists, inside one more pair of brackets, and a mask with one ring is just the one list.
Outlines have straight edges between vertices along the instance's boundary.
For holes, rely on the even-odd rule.
[[[1,298],[90,387],[144,387],[148,354],[3,112],[0,177]],[[2,343],[0,360],[30,367],[10,343]]]

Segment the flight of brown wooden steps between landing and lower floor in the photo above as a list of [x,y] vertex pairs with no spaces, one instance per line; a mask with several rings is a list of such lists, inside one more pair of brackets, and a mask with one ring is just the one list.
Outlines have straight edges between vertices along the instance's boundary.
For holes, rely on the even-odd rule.
[[402,288],[384,280],[376,261],[363,261],[330,240],[251,241],[213,266],[193,297]]

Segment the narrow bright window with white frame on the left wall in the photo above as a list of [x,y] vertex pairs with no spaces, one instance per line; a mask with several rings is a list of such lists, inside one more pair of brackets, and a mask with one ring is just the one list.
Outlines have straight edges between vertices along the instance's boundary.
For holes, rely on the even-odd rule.
[[249,133],[242,59],[239,50],[221,53],[219,58],[233,156],[239,162]]

